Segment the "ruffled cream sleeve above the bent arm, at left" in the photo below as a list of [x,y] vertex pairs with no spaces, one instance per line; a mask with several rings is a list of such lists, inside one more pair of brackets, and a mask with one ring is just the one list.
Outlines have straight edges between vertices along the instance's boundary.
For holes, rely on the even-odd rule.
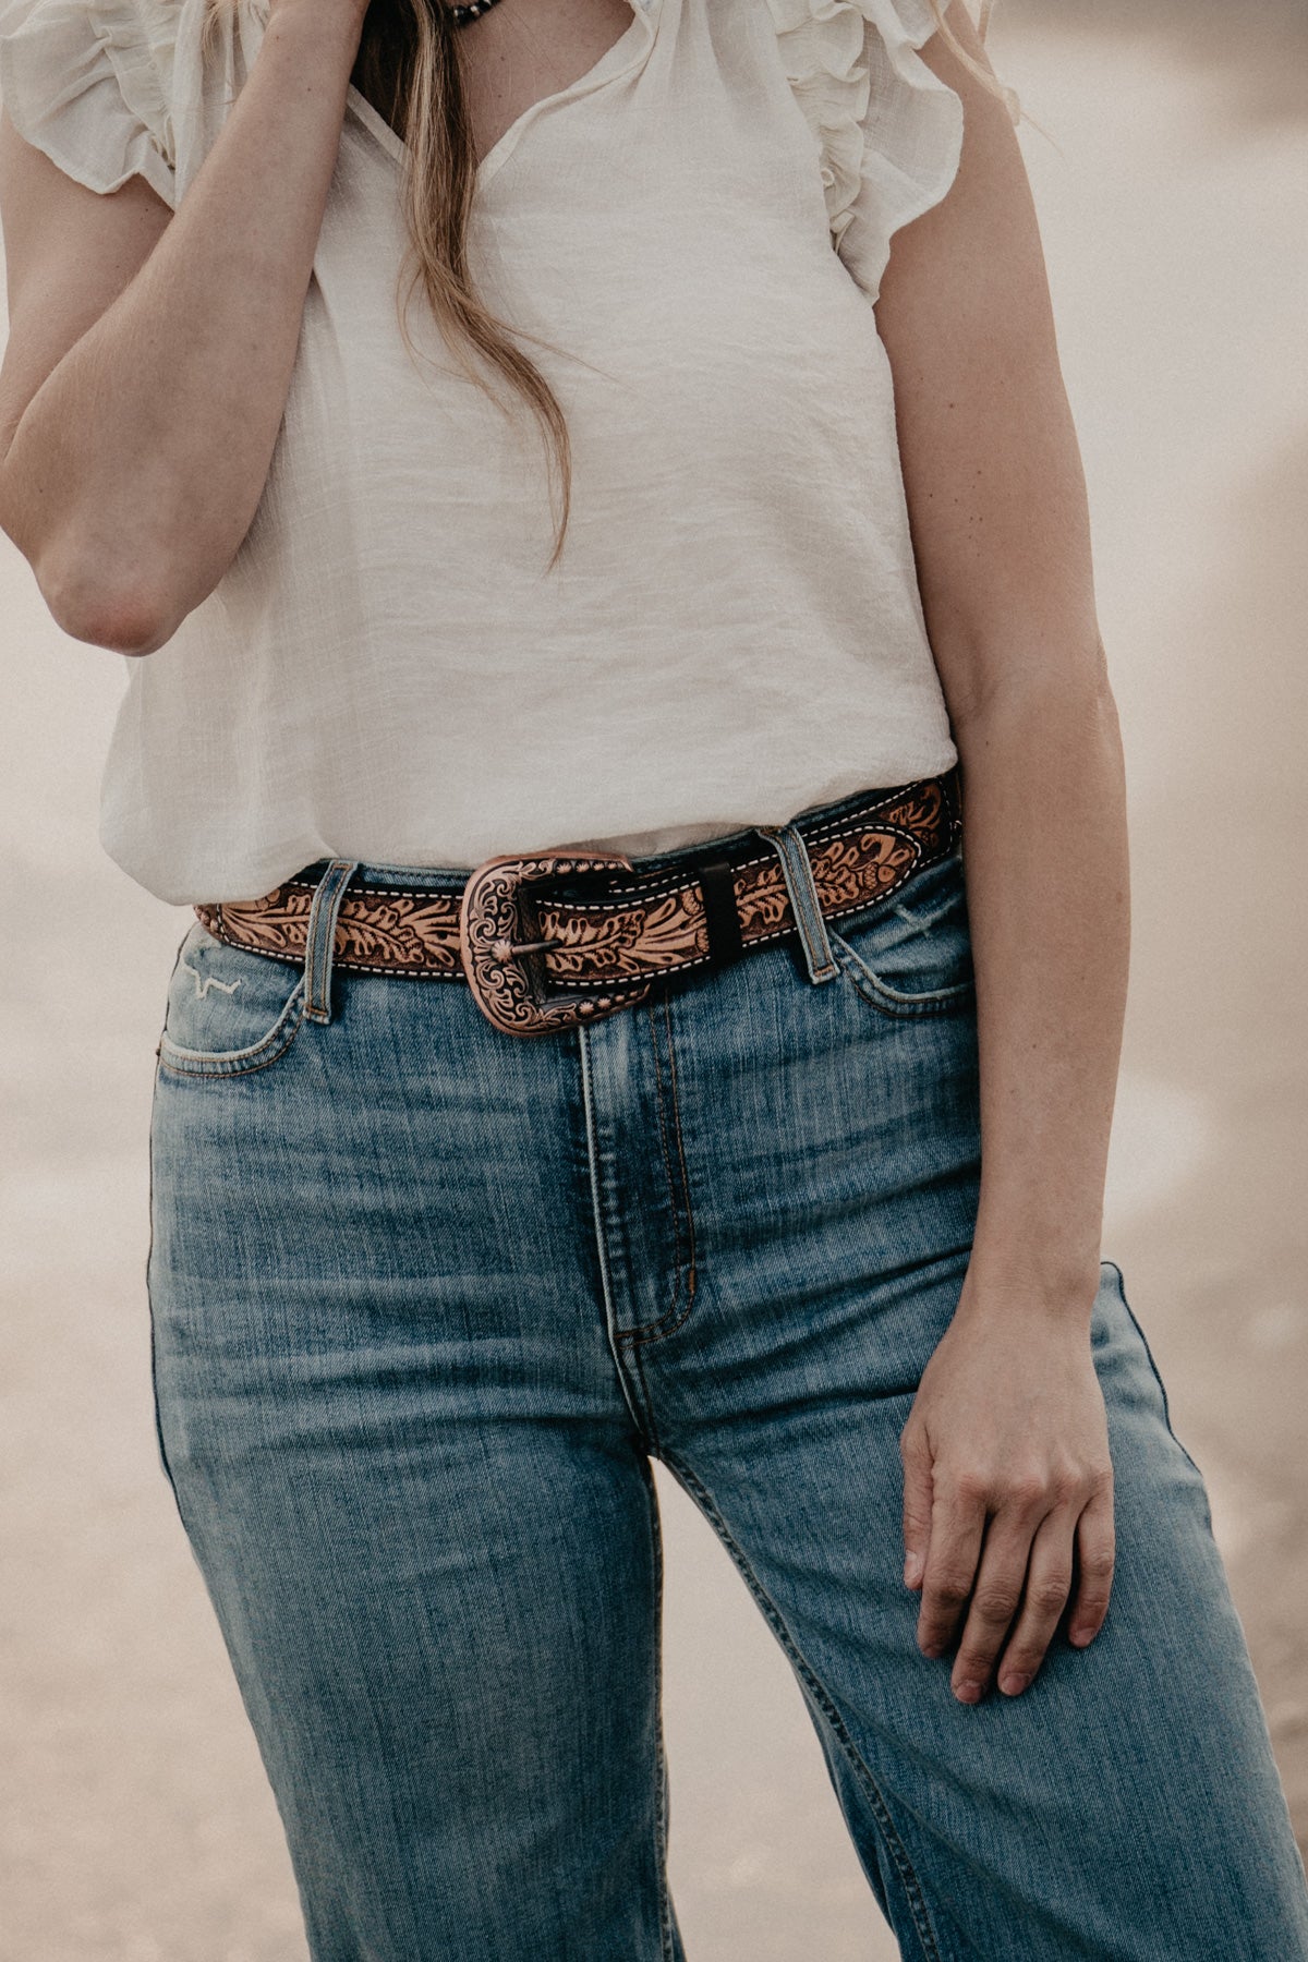
[[18,133],[88,190],[143,177],[176,206],[165,0],[0,0],[0,100]]

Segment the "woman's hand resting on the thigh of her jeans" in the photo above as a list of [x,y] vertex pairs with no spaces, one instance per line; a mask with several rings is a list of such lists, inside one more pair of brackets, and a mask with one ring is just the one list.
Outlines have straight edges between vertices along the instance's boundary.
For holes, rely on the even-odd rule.
[[998,1685],[1018,1695],[1073,1587],[1079,1648],[1108,1611],[1112,1460],[1084,1318],[965,1287],[900,1454],[904,1581],[922,1589],[918,1646],[941,1656],[961,1626],[959,1701],[984,1695],[1000,1648]]

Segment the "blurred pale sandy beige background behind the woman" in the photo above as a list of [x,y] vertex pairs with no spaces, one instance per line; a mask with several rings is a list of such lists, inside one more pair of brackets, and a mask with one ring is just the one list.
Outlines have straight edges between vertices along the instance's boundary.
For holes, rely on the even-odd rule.
[[[1304,26],[1012,0],[1122,704],[1137,936],[1106,1252],[1202,1464],[1308,1833]],[[1298,22],[1298,26],[1294,26]],[[280,1829],[155,1460],[153,1044],[184,918],[96,844],[120,663],[0,538],[2,1962],[302,1962]],[[800,1695],[661,1479],[694,1962],[888,1962]]]

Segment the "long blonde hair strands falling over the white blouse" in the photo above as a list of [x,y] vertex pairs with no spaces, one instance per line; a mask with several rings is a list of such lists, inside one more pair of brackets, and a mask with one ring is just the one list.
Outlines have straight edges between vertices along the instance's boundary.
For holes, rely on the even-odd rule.
[[[210,0],[210,22],[222,8],[231,6],[235,0]],[[947,0],[930,0],[930,6],[951,51],[979,82],[1006,102],[1016,122],[1020,112],[1014,92],[963,47],[945,20]],[[986,35],[992,6],[994,0],[981,0],[981,39]],[[422,288],[445,345],[469,381],[508,414],[510,404],[492,388],[486,375],[486,369],[496,371],[535,416],[549,463],[551,512],[557,508],[555,547],[547,565],[547,571],[553,571],[563,551],[573,502],[573,445],[553,388],[518,345],[520,339],[533,336],[498,320],[482,302],[469,271],[467,239],[477,188],[477,149],[467,114],[459,29],[445,0],[373,0],[351,80],[406,145],[400,200],[408,251],[396,292],[404,345],[414,357],[408,308],[414,292]]]

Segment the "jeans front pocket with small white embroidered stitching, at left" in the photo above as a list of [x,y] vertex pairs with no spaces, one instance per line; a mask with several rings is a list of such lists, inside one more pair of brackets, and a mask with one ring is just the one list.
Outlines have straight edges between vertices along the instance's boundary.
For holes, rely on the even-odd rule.
[[214,940],[196,920],[169,981],[159,1063],[176,1077],[241,1077],[286,1054],[304,1018],[304,969]]

